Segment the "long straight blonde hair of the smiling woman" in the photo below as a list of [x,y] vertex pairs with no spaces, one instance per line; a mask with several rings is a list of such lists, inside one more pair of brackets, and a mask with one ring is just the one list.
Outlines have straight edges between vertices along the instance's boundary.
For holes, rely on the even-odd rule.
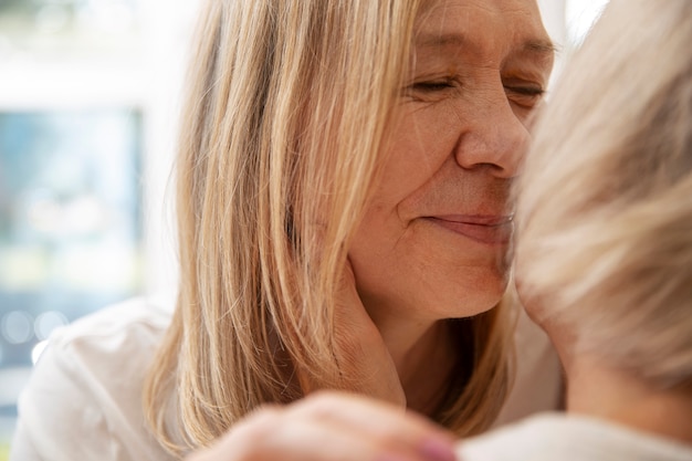
[[[296,373],[348,387],[334,358],[335,293],[420,3],[207,2],[177,161],[181,283],[145,389],[171,452],[302,397]],[[441,409],[457,430],[487,427],[502,405],[504,319],[496,310],[465,323],[474,373]]]

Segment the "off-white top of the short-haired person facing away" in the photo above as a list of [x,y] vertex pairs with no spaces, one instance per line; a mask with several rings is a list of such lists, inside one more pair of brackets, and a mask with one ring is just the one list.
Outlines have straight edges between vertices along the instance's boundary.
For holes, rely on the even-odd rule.
[[463,461],[692,461],[692,447],[605,420],[533,416],[459,442]]

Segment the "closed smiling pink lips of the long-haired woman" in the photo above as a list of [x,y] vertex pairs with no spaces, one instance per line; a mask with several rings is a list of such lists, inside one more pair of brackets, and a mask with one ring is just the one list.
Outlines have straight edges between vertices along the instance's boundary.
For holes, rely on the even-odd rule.
[[434,216],[426,219],[485,244],[506,244],[512,238],[511,216]]

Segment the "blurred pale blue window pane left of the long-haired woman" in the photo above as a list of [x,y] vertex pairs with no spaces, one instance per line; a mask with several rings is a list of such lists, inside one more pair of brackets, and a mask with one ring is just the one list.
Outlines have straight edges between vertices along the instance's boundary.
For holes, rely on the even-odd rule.
[[[140,130],[127,108],[0,114],[4,365],[30,364],[21,347],[59,318],[140,290]],[[27,334],[8,319],[18,313],[32,319]]]

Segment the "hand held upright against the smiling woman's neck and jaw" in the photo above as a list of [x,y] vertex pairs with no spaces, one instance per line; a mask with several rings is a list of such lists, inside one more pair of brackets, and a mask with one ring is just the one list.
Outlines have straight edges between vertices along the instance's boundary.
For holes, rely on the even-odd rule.
[[[342,276],[335,313],[336,360],[342,374],[340,390],[354,391],[406,408],[406,395],[389,349],[356,291],[350,262]],[[305,392],[321,389],[301,377]]]

